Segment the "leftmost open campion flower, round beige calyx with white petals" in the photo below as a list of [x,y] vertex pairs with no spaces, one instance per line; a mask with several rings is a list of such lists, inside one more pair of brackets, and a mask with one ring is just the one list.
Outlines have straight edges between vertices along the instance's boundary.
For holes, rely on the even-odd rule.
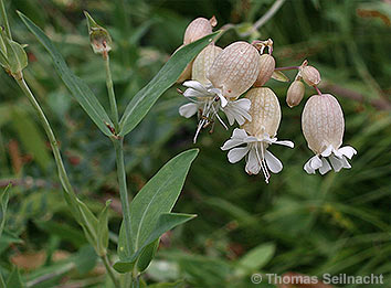
[[[196,73],[199,78],[193,77],[193,81],[183,83],[183,86],[188,87],[183,96],[198,106],[187,104],[180,107],[179,113],[184,117],[191,117],[197,110],[201,114],[194,142],[201,128],[209,124],[213,125],[214,118],[218,118],[226,128],[218,115],[219,110],[226,115],[230,125],[233,125],[235,120],[240,125],[243,125],[245,120],[251,120],[251,115],[247,113],[251,102],[237,98],[256,81],[260,73],[260,54],[253,45],[246,42],[235,42],[220,53],[216,52],[215,49],[209,49],[200,54],[200,62],[202,62],[201,57],[207,57],[207,53],[209,57],[215,58],[213,62],[208,61],[208,65],[196,67],[196,70],[203,70]],[[197,62],[199,56],[196,58]]]

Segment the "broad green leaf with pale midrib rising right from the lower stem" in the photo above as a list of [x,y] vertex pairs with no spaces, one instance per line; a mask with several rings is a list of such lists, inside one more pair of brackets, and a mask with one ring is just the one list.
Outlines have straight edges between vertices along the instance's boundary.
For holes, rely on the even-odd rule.
[[[150,239],[161,214],[171,212],[198,151],[198,149],[188,150],[171,159],[137,193],[130,203],[131,250],[126,252],[125,249],[125,226],[121,225],[118,241],[120,262],[131,259],[133,254],[141,249],[145,243]],[[114,267],[116,268],[118,265]],[[123,270],[120,267],[118,269]]]

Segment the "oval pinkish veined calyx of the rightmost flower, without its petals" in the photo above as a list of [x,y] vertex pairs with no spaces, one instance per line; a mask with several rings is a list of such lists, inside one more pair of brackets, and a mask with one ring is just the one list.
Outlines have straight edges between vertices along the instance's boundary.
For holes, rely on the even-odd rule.
[[302,128],[308,147],[320,154],[327,147],[342,145],[345,120],[338,100],[330,94],[311,96],[303,110]]

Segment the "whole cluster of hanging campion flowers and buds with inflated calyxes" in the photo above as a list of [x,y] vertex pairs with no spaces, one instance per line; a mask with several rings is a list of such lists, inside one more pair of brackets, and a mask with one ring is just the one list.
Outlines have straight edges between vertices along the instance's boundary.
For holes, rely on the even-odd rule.
[[[198,18],[187,28],[183,45],[212,33],[216,20]],[[179,47],[181,49],[181,47]],[[267,53],[264,53],[266,52]],[[273,41],[237,41],[225,49],[211,43],[189,65],[178,79],[187,89],[182,95],[190,103],[179,108],[186,118],[198,115],[194,142],[202,128],[211,126],[215,119],[226,129],[219,114],[225,114],[229,124],[235,121],[240,128],[221,147],[230,150],[231,163],[246,158],[245,171],[249,174],[263,172],[268,182],[270,172],[278,173],[282,162],[268,151],[271,145],[294,148],[292,141],[277,140],[281,122],[281,107],[274,92],[264,87],[275,73],[275,60],[272,56]],[[345,120],[338,100],[330,94],[321,94],[319,72],[305,61],[298,70],[295,81],[287,90],[286,102],[289,107],[297,106],[304,97],[305,85],[316,88],[317,95],[309,97],[302,116],[302,128],[308,147],[315,156],[304,166],[305,171],[321,174],[332,169],[338,172],[350,168],[347,158],[356,154],[352,147],[342,147]],[[278,70],[278,68],[277,68]],[[245,94],[243,98],[239,97]]]

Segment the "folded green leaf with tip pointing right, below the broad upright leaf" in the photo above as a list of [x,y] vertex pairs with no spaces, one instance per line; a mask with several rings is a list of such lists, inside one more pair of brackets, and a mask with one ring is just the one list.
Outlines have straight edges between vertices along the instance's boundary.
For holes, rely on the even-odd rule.
[[[182,213],[163,213],[160,215],[152,233],[149,235],[149,237],[144,242],[141,247],[131,255],[129,259],[126,259],[125,262],[118,262],[115,264],[115,268],[117,271],[120,273],[126,273],[133,269],[134,263],[138,259],[140,254],[146,252],[149,246],[155,246],[155,242],[159,239],[159,237],[165,234],[166,232],[194,218],[197,215],[194,214],[182,214]],[[157,242],[159,243],[159,242]],[[149,264],[149,262],[148,262]],[[139,265],[139,264],[138,264]],[[147,265],[148,266],[148,265]],[[144,267],[144,269],[147,267]],[[144,270],[140,269],[140,270]]]

